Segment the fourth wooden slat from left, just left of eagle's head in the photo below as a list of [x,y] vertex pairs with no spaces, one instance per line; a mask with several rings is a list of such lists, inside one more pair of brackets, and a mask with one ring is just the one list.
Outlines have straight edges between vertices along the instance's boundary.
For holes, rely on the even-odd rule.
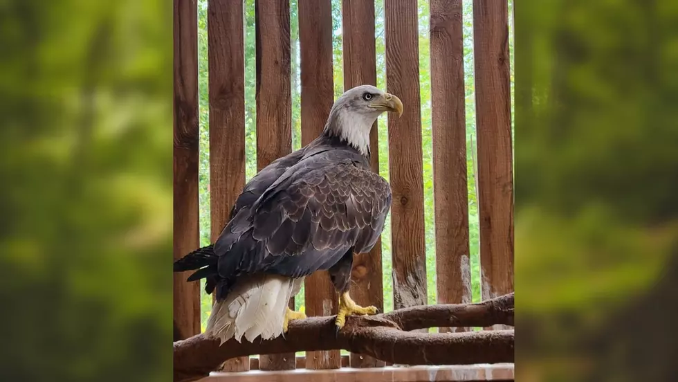
[[[299,0],[301,53],[302,146],[322,132],[334,101],[332,78],[331,0]],[[305,282],[306,314],[331,316],[338,311],[338,296],[326,271]],[[340,352],[306,352],[307,369],[341,367]]]

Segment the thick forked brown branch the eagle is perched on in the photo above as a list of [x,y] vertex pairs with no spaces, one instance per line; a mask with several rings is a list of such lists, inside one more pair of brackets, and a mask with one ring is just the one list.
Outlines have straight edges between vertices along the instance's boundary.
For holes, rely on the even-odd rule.
[[238,343],[202,334],[174,343],[174,381],[208,376],[223,361],[251,354],[346,349],[408,365],[513,362],[513,330],[428,334],[429,327],[513,325],[513,293],[479,304],[439,304],[398,309],[375,316],[349,316],[339,332],[334,317],[290,322],[284,338]]

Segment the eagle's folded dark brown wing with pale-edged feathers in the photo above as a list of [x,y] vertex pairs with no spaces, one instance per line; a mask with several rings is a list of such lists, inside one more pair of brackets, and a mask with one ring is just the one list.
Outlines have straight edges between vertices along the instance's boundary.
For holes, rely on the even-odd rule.
[[[334,150],[300,161],[226,226],[215,248],[221,278],[325,269],[348,248],[366,252],[391,206],[388,183]],[[334,262],[336,262],[334,260]]]

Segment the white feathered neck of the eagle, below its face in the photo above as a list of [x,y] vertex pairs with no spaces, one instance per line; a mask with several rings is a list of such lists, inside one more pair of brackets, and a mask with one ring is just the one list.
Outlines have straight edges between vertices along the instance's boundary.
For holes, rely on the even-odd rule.
[[323,134],[338,137],[369,158],[369,131],[375,121],[376,116],[351,112],[346,108],[333,108]]

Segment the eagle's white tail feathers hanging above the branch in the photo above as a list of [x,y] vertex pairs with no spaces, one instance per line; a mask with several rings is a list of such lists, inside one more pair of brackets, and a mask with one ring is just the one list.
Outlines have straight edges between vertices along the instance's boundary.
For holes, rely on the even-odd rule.
[[234,337],[253,342],[258,336],[264,340],[280,336],[288,301],[299,293],[303,280],[280,275],[241,280],[225,299],[214,303],[205,335],[221,343]]

